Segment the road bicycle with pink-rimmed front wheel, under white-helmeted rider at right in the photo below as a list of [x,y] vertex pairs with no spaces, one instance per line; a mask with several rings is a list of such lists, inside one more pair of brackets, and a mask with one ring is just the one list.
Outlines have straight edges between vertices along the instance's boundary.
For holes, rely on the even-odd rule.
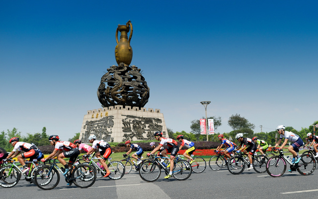
[[[275,149],[274,152],[277,153],[277,149]],[[300,155],[300,161],[295,164],[292,163],[291,159],[286,157],[284,153],[282,150],[279,150],[279,155],[274,155],[268,160],[266,171],[272,177],[280,177],[285,173],[287,168],[286,162],[290,164],[291,172],[297,171],[299,174],[309,175],[315,171],[316,161],[311,154],[304,153]]]

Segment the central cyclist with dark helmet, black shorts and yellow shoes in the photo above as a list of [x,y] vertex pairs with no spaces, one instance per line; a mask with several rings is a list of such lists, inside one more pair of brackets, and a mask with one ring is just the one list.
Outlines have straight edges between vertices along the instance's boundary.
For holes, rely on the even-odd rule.
[[153,149],[153,151],[151,151],[150,153],[147,153],[147,155],[151,155],[151,154],[154,154],[156,153],[163,145],[167,145],[168,148],[165,149],[165,150],[162,150],[161,154],[164,156],[164,157],[168,157],[167,153],[170,153],[170,172],[167,176],[165,176],[164,178],[169,178],[169,177],[172,177],[172,170],[173,170],[173,167],[174,167],[174,163],[173,163],[173,160],[175,159],[178,151],[179,151],[179,148],[178,148],[178,143],[171,139],[171,138],[163,138],[162,137],[162,132],[160,131],[157,131],[155,132],[154,134],[156,140],[159,140],[160,143],[158,145],[158,147],[156,147],[155,149]]

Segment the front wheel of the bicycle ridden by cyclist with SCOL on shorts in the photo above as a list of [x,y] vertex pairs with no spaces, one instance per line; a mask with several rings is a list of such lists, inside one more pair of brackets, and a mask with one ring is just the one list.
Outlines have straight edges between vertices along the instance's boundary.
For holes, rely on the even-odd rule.
[[35,172],[34,182],[40,189],[54,189],[60,182],[60,174],[54,167],[42,166]]

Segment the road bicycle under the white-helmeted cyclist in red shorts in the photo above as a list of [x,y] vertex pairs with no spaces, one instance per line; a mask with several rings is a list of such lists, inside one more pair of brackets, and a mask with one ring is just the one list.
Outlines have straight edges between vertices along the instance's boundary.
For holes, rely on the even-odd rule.
[[[107,173],[107,171],[105,170],[103,165],[98,161],[99,159],[102,159],[102,158],[94,157],[94,154],[95,153],[91,154],[88,159],[84,160],[85,162],[83,164],[91,165],[96,172],[97,178],[104,177],[104,175]],[[80,163],[79,159],[77,159],[77,161]],[[106,164],[107,164],[109,171],[111,172],[111,174],[108,175],[109,178],[111,178],[113,180],[118,180],[124,176],[125,166],[121,162],[112,161],[112,158],[109,157],[106,160]]]

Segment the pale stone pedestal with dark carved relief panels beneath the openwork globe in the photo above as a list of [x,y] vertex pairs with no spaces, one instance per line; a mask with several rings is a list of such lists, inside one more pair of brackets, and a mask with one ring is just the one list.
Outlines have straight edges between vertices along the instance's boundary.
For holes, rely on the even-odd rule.
[[87,111],[79,139],[89,143],[89,136],[96,135],[107,142],[153,140],[156,131],[169,137],[160,109],[115,105]]

